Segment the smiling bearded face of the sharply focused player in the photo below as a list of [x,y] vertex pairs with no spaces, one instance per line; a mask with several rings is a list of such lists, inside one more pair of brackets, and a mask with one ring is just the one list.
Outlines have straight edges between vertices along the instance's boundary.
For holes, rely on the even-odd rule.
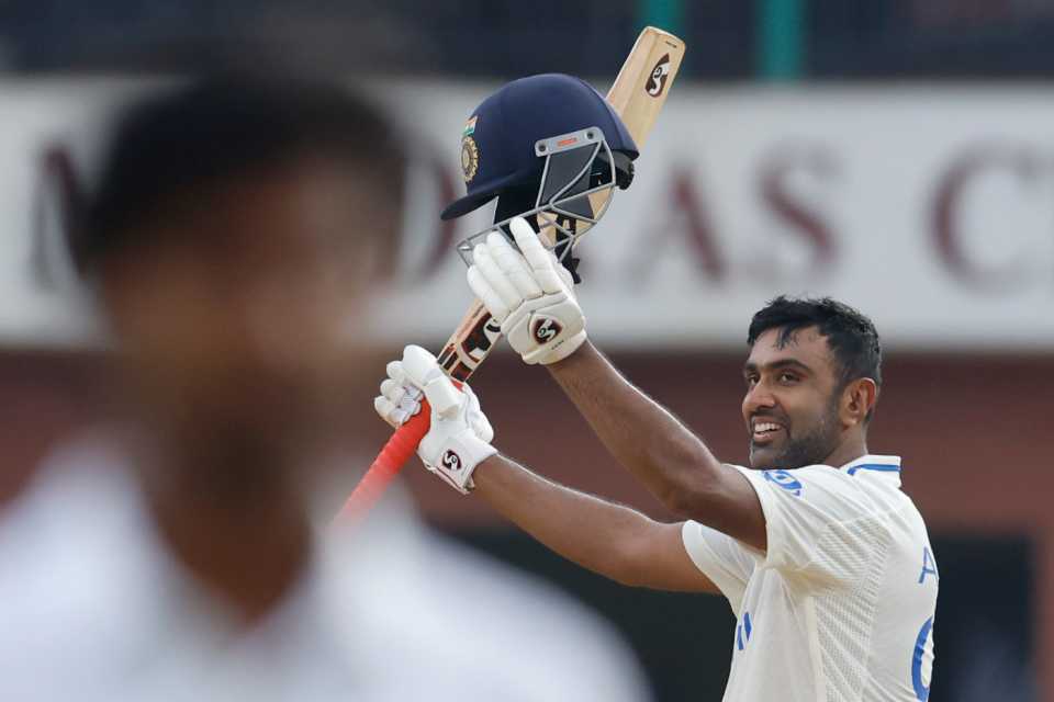
[[841,439],[836,362],[816,327],[780,348],[780,329],[762,333],[743,366],[743,419],[754,468],[823,463]]

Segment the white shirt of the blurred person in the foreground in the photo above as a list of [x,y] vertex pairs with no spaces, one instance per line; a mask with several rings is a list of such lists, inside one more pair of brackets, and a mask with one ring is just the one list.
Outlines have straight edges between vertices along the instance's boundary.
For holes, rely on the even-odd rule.
[[251,630],[169,556],[106,446],[70,446],[0,512],[0,700],[642,702],[583,608],[425,531],[392,497],[326,524]]

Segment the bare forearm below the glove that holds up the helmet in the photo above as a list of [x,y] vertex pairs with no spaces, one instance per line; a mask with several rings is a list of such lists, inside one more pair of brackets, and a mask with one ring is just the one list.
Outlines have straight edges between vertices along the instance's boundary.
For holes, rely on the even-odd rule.
[[691,511],[720,463],[688,428],[591,343],[547,366],[607,450],[664,505]]

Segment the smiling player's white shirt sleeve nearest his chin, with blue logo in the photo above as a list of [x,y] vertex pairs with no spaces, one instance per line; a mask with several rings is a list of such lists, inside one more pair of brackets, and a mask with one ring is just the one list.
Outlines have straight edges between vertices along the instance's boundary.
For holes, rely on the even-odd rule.
[[817,586],[850,586],[888,542],[881,509],[841,471],[733,467],[750,482],[765,514],[766,567]]

